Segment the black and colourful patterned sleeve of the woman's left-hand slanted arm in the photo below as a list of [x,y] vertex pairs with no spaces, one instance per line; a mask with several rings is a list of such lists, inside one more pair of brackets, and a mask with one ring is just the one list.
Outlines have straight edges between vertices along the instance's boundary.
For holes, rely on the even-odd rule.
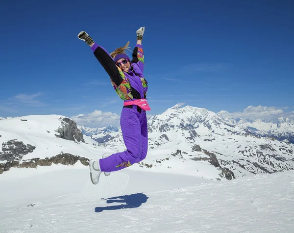
[[117,67],[110,54],[101,46],[95,44],[92,48],[94,55],[110,77],[111,84],[122,100],[132,100],[131,86],[129,80],[123,74],[121,68]]

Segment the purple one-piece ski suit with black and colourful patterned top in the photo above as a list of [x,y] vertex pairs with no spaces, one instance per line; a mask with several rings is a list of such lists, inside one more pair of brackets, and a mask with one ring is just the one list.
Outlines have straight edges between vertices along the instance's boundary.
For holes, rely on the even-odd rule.
[[[114,90],[123,101],[146,99],[147,81],[143,77],[144,51],[142,45],[133,50],[130,70],[123,72],[110,54],[96,43],[91,50],[110,77]],[[148,150],[146,111],[137,105],[123,106],[121,129],[126,151],[99,160],[102,172],[113,172],[142,161]]]

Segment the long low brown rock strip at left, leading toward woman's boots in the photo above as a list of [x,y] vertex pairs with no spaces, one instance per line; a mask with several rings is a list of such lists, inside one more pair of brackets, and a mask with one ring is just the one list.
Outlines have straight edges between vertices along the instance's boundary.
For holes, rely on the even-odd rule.
[[9,171],[11,167],[36,168],[37,166],[51,166],[52,163],[62,165],[74,165],[77,161],[80,161],[81,164],[88,166],[89,159],[68,153],[61,153],[51,158],[46,157],[42,159],[32,158],[24,161],[8,161],[6,163],[0,163],[0,174],[5,171]]

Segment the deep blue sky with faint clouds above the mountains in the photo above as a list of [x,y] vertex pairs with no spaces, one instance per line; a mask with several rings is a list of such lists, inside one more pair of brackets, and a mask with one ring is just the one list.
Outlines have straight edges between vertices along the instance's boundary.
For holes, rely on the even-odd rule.
[[123,102],[77,34],[87,31],[112,52],[127,41],[133,49],[141,26],[148,115],[177,103],[294,114],[291,0],[40,2],[1,3],[1,117],[84,114],[83,125],[119,123]]

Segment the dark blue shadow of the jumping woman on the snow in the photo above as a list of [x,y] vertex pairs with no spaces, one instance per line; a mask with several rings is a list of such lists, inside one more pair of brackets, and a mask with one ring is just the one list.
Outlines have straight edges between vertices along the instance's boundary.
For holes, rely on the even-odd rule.
[[96,207],[95,212],[102,212],[103,210],[116,210],[123,208],[137,208],[143,203],[147,202],[148,197],[143,193],[135,193],[131,195],[124,195],[119,197],[102,198],[107,200],[106,203],[123,203],[117,206]]

